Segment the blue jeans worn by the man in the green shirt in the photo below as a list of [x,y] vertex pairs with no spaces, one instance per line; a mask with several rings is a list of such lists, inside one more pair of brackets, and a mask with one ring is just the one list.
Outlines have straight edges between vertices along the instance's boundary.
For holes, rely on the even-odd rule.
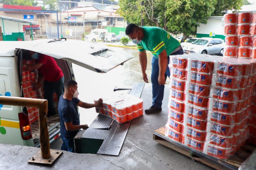
[[[181,55],[183,53],[183,49],[181,48],[179,51],[175,52],[172,55]],[[170,77],[170,69],[168,68],[170,58],[168,57],[168,63],[166,66],[165,71],[165,81],[167,76]],[[158,64],[158,58],[154,57],[152,58],[152,72],[151,72],[151,83],[152,83],[152,95],[153,95],[153,102],[152,106],[156,108],[162,107],[162,101],[164,98],[164,85],[158,84],[158,76],[159,76],[159,64]]]

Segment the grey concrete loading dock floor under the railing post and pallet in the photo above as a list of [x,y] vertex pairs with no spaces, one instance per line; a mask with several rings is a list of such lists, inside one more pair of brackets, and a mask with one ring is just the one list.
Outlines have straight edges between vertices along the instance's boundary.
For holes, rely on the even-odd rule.
[[[163,105],[167,105],[168,101],[167,87],[165,94]],[[144,109],[151,105],[151,97],[151,85],[146,84],[141,96]],[[144,114],[132,120],[118,157],[63,152],[52,167],[27,163],[39,148],[0,144],[0,169],[211,169],[152,139],[153,131],[164,126],[166,120],[165,107],[159,114]],[[60,147],[61,140],[58,143],[56,146]],[[54,148],[54,145],[51,147]]]

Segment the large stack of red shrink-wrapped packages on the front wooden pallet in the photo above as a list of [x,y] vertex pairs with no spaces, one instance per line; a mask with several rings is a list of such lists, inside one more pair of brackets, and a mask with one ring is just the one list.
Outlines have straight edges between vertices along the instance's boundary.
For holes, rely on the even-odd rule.
[[256,108],[252,101],[256,99],[256,63],[202,54],[173,55],[169,68],[165,136],[206,155],[228,159],[254,128],[248,121]]

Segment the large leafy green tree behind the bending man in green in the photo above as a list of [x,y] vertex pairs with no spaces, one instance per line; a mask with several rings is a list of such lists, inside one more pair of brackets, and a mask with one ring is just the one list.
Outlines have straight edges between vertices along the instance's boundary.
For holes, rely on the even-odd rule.
[[[141,2],[144,5],[141,5]],[[183,33],[182,41],[195,35],[197,26],[210,16],[227,9],[240,9],[243,0],[120,0],[118,13],[129,23],[159,26],[174,34]],[[142,11],[142,15],[141,15]]]

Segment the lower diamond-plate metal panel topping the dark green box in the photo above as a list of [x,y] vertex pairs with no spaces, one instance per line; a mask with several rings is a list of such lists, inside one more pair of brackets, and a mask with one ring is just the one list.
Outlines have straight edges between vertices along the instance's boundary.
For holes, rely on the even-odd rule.
[[108,135],[109,130],[102,129],[86,129],[81,138],[102,139]]

